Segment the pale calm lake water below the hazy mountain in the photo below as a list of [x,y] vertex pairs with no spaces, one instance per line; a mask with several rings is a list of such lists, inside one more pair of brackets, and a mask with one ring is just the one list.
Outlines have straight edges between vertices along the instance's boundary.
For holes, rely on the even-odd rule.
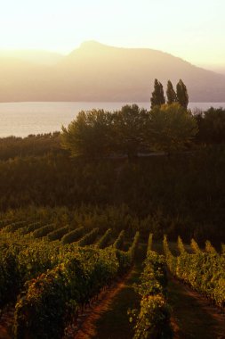
[[[0,137],[28,136],[60,130],[82,110],[100,108],[116,111],[127,103],[0,103]],[[130,104],[130,103],[129,103]],[[150,103],[138,103],[149,110]],[[206,110],[223,107],[225,103],[189,103],[189,108]]]

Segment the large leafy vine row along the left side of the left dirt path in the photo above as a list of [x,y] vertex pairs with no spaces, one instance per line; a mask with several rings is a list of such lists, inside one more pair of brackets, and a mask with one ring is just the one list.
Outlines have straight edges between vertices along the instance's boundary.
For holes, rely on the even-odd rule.
[[[96,229],[93,231],[96,233]],[[88,233],[86,240],[90,238]],[[112,247],[77,248],[76,252],[65,255],[54,269],[30,280],[26,294],[16,304],[15,338],[28,335],[36,339],[60,339],[69,323],[75,321],[78,310],[115,280],[121,268],[130,267],[138,239],[137,233],[128,252],[119,255]]]

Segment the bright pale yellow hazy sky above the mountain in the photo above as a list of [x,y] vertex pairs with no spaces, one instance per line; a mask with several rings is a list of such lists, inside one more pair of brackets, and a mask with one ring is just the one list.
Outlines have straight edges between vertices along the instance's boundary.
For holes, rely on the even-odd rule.
[[225,0],[0,0],[0,49],[67,54],[85,40],[225,67]]

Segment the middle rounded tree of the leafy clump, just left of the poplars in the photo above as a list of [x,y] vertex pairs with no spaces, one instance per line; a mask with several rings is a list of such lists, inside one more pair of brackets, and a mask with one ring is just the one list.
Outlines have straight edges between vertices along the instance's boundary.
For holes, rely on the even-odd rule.
[[141,151],[144,142],[144,129],[149,114],[137,104],[125,105],[114,112],[116,150],[127,154],[131,159]]

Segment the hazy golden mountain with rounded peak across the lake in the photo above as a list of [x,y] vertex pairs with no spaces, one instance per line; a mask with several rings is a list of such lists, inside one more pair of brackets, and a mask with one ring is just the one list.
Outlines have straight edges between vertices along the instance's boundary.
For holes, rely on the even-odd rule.
[[38,63],[0,54],[0,101],[145,102],[157,78],[174,87],[182,79],[190,102],[225,102],[225,75],[157,50],[89,41],[57,62]]

